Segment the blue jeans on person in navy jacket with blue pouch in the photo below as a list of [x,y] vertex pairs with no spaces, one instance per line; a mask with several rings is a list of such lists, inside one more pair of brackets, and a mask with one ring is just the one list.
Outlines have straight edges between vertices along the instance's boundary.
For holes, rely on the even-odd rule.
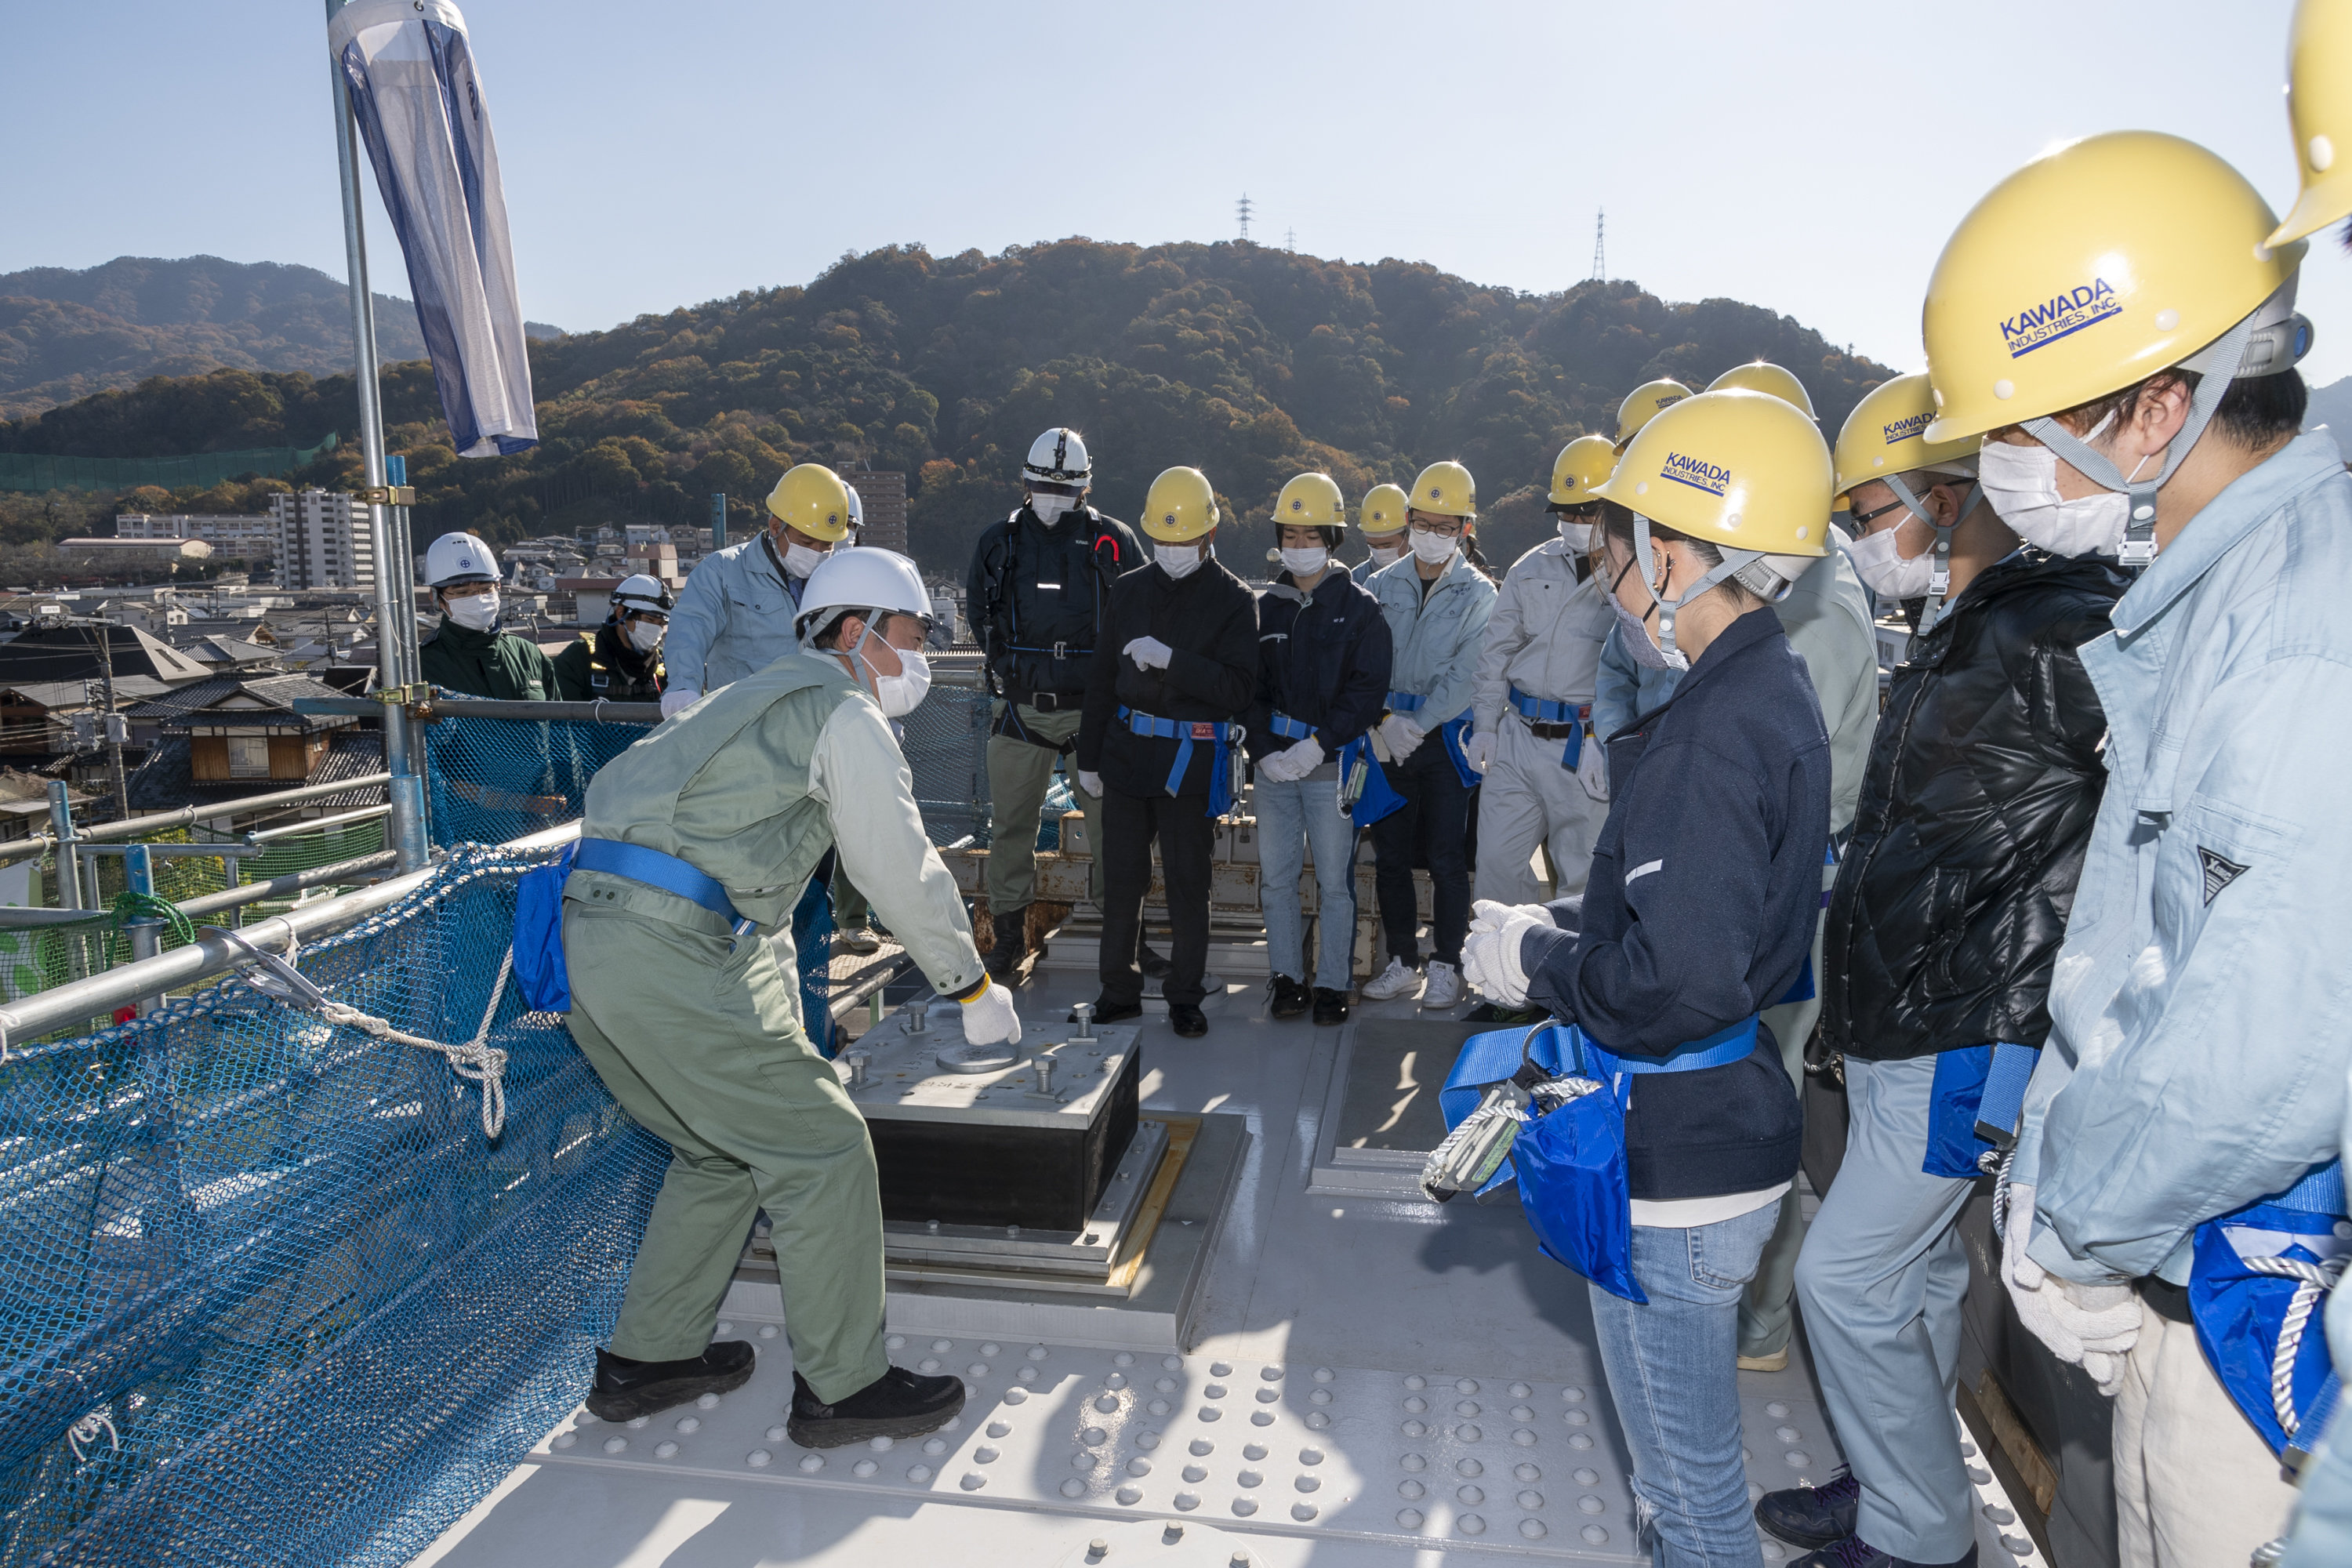
[[1632,1276],[1646,1307],[1592,1291],[1609,1396],[1632,1453],[1635,1512],[1653,1568],[1762,1568],[1740,1467],[1733,1366],[1740,1295],[1780,1220],[1764,1204],[1733,1220],[1632,1227]]

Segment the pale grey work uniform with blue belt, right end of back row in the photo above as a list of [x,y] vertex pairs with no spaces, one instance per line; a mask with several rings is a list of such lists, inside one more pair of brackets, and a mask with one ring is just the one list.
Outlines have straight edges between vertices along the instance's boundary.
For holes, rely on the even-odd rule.
[[1576,557],[1559,538],[1522,555],[1503,578],[1470,696],[1477,733],[1494,736],[1477,806],[1479,898],[1545,903],[1531,870],[1538,844],[1552,858],[1552,898],[1585,891],[1592,839],[1609,818],[1602,748],[1585,736],[1578,766],[1564,766],[1566,736],[1538,741],[1510,705],[1510,689],[1571,708],[1592,703],[1592,675],[1613,623],[1599,583],[1576,581]]

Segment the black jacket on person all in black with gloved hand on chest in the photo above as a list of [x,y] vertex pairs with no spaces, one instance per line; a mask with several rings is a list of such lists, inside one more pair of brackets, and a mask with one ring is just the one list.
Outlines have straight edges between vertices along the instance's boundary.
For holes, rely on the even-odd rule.
[[[1167,670],[1122,656],[1136,637],[1174,649]],[[1258,602],[1242,578],[1207,559],[1181,581],[1157,564],[1110,588],[1101,658],[1077,724],[1077,766],[1122,795],[1209,795],[1216,745],[1197,741],[1176,790],[1178,743],[1138,736],[1120,708],[1160,719],[1240,719],[1258,691]],[[1235,736],[1240,741],[1240,736]]]

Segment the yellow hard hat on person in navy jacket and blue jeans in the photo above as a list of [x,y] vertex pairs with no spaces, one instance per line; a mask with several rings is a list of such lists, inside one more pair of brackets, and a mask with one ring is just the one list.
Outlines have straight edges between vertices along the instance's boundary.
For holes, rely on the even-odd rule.
[[1830,550],[1830,449],[1769,393],[1700,393],[1663,409],[1595,494],[1726,550]]

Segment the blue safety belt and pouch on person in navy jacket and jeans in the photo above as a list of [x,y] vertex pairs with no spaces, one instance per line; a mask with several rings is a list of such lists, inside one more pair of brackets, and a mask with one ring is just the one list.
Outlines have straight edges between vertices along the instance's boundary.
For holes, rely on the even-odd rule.
[[[1557,1020],[1534,1030],[1496,1030],[1463,1044],[1437,1091],[1437,1110],[1451,1131],[1503,1079],[1538,1088],[1534,1114],[1479,1192],[1517,1178],[1519,1208],[1548,1258],[1611,1295],[1646,1302],[1649,1295],[1632,1276],[1632,1187],[1625,1171],[1632,1079],[1729,1067],[1755,1056],[1755,1013],[1663,1058],[1618,1056],[1576,1025]],[[1571,1098],[1545,1107],[1557,1098],[1559,1079],[1566,1079]],[[1545,1088],[1552,1093],[1543,1093]]]

